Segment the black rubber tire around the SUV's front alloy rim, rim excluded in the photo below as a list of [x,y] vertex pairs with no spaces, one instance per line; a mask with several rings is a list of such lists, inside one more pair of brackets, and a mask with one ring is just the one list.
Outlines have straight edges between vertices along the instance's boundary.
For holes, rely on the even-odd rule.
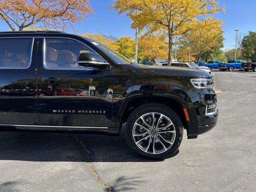
[[[150,153],[144,152],[135,144],[132,136],[134,123],[138,120],[140,116],[150,112],[161,113],[167,116],[172,121],[175,127],[176,137],[175,137],[174,143],[172,144],[172,146],[170,146],[168,150],[160,154],[150,154]],[[171,108],[164,106],[160,103],[148,103],[148,104],[143,104],[139,106],[132,112],[132,114],[130,114],[126,124],[125,135],[126,135],[126,140],[128,145],[136,153],[149,158],[166,159],[166,158],[170,158],[178,150],[182,142],[183,126],[180,121],[180,118]]]

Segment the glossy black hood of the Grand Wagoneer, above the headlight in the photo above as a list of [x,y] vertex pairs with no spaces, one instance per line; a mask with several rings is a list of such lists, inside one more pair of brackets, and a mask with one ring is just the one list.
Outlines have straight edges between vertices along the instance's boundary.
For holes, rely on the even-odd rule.
[[[212,75],[206,71],[199,69],[192,69],[186,67],[172,67],[172,66],[152,66],[141,64],[129,64],[132,68],[142,71],[150,72],[152,75],[158,76],[188,76],[194,78],[212,78]],[[143,72],[141,72],[143,74]],[[148,74],[148,73],[146,73]]]

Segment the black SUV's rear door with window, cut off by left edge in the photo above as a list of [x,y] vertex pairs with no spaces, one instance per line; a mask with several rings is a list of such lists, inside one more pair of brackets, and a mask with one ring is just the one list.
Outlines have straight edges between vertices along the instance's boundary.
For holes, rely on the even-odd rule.
[[0,124],[38,125],[38,38],[0,38]]

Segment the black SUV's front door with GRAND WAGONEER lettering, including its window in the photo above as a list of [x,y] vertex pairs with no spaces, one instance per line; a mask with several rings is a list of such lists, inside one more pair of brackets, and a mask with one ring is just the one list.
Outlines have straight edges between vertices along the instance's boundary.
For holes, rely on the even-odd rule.
[[[113,70],[81,67],[81,53],[94,52],[69,38],[39,38],[38,116],[44,126],[112,126]],[[94,52],[95,53],[95,52]]]

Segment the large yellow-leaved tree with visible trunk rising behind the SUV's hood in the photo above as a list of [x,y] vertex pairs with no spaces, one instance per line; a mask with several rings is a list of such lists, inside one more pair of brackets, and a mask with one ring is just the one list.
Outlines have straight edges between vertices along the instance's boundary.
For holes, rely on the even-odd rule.
[[[110,6],[119,14],[127,12],[132,28],[147,32],[162,30],[168,34],[168,65],[171,63],[172,39],[176,35],[223,24],[211,16],[224,11],[216,0],[114,0]],[[138,14],[137,14],[138,10]]]

